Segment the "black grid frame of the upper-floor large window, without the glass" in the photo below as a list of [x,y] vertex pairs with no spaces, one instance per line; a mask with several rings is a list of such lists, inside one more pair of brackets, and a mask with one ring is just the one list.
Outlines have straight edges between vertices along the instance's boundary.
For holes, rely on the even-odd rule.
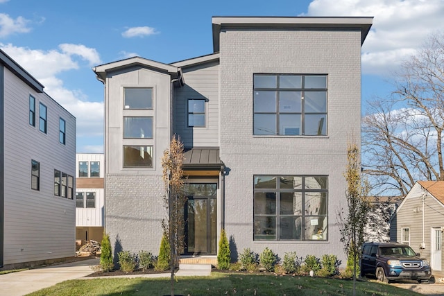
[[[255,85],[255,78],[259,77],[259,76],[274,76],[275,77],[275,86],[274,87],[259,87],[257,85]],[[280,78],[284,77],[284,76],[300,76],[300,87],[280,87]],[[318,76],[318,77],[325,77],[325,88],[323,87],[313,87],[313,88],[309,88],[309,87],[305,87],[305,80],[307,77],[314,77],[314,76]],[[259,94],[259,92],[274,92],[274,111],[263,111],[263,110],[255,110],[255,98],[256,94]],[[283,96],[283,94],[285,93],[289,93],[289,92],[294,92],[294,93],[299,93],[300,94],[300,110],[295,110],[293,112],[283,112],[280,110],[280,98],[281,96]],[[307,101],[307,94],[309,93],[314,93],[314,92],[325,92],[325,112],[309,112],[306,106],[306,101]],[[284,98],[284,97],[283,97]],[[270,103],[270,106],[273,105]],[[308,106],[308,105],[307,105]],[[296,107],[297,109],[297,107]],[[259,116],[266,116],[266,115],[271,115],[274,116],[274,134],[269,132],[269,133],[261,133],[261,132],[257,132],[257,130],[259,129],[259,126],[256,127],[255,122],[257,121],[257,119],[255,120],[256,117]],[[318,132],[316,133],[309,133],[307,130],[308,126],[311,126],[308,124],[308,119],[310,116],[314,116],[314,115],[318,115],[321,116],[320,120],[318,121]],[[281,128],[281,116],[282,118],[284,116],[299,116],[299,120],[296,124],[293,125],[288,125],[287,127],[289,129],[295,130],[296,128],[298,129],[298,134],[293,134],[293,133],[289,133],[289,134],[284,134],[284,130],[285,130],[285,126],[282,125],[282,130],[280,130]],[[328,122],[328,75],[327,74],[297,74],[297,73],[253,73],[253,135],[254,136],[262,136],[262,137],[326,137],[328,135],[328,126],[327,126],[327,122]],[[325,127],[325,132],[323,131]],[[320,129],[321,128],[321,129]]]

